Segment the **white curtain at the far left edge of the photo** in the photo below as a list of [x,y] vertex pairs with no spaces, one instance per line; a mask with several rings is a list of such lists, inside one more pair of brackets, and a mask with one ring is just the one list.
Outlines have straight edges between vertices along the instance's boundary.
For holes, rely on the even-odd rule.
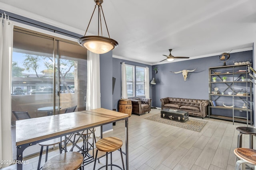
[[[0,160],[12,160],[11,138],[11,77],[13,23],[1,18],[0,26]],[[0,168],[8,164],[0,164]]]

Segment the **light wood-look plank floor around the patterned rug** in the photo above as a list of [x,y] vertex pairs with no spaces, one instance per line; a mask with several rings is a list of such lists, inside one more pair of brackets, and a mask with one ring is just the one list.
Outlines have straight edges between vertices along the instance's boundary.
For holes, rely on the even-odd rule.
[[[201,132],[195,132],[144,119],[159,112],[159,109],[152,109],[150,113],[129,117],[130,170],[234,170],[236,157],[233,151],[237,146],[238,135],[236,127],[246,124],[233,125],[230,121],[204,118],[208,123]],[[103,136],[118,137],[125,143],[124,121],[116,122],[113,127],[114,131]],[[248,146],[248,135],[243,135],[242,147]],[[125,151],[124,145],[122,150]],[[53,150],[48,157],[56,154],[58,150]],[[97,162],[96,168],[105,164],[104,159]],[[36,170],[38,156],[28,161],[29,164],[24,165],[23,169]],[[113,162],[122,165],[120,152],[113,152]],[[15,167],[12,165],[2,170],[15,170]],[[85,167],[86,170],[92,168],[93,163]]]

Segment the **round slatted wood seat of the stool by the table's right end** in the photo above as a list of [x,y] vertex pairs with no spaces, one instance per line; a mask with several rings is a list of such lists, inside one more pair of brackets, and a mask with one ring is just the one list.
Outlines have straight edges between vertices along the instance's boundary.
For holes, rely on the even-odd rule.
[[95,145],[102,152],[113,152],[122,147],[123,141],[117,137],[105,137],[98,140]]

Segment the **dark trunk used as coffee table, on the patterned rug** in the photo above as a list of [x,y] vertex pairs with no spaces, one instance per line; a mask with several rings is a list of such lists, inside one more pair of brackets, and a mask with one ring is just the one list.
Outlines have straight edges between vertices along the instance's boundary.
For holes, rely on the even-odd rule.
[[162,109],[161,110],[161,118],[179,121],[179,122],[186,122],[188,121],[188,112],[181,111],[176,109]]

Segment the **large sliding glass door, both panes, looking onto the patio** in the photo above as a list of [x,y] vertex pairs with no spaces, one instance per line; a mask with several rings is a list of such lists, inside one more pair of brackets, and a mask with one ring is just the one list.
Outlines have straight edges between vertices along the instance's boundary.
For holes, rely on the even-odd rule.
[[[62,114],[72,106],[77,106],[76,111],[85,110],[86,85],[86,49],[76,42],[14,29],[10,92],[13,111],[27,111],[34,118]],[[12,113],[14,158],[18,119]],[[25,156],[39,151],[32,149]]]

